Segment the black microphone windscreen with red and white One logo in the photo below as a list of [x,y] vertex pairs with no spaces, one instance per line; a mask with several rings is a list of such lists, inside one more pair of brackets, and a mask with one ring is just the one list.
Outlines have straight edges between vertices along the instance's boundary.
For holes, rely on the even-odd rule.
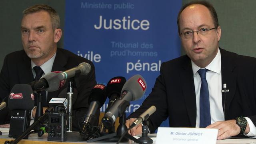
[[34,108],[34,94],[29,84],[15,84],[8,98],[10,110],[32,110]]

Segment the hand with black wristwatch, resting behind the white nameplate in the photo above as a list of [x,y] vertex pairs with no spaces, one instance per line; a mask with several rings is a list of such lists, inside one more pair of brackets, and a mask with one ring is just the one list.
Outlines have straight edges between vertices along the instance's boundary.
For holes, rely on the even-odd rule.
[[[218,129],[218,140],[222,140],[224,138],[227,138],[228,136],[236,136],[240,133],[240,127],[236,124],[236,120],[226,120],[222,122],[214,122],[213,124],[210,124],[206,128],[216,128]],[[249,125],[246,126],[245,134],[248,134],[250,132]]]

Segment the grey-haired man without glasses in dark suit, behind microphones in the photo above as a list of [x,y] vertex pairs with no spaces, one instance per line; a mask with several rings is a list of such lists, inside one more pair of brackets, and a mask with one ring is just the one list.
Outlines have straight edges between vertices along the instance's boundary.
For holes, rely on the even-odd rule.
[[[60,29],[60,18],[58,13],[47,5],[35,5],[27,8],[23,12],[21,22],[21,36],[24,50],[12,52],[4,59],[2,71],[0,73],[0,100],[3,100],[15,84],[28,84],[32,82],[37,74],[35,67],[42,70],[42,74],[51,71],[65,71],[81,62],[91,65],[91,71],[86,76],[78,79],[79,87],[74,90],[73,95],[73,130],[79,131],[79,122],[88,109],[88,97],[93,86],[96,84],[95,68],[90,60],[77,56],[68,50],[57,48],[57,42],[62,36]],[[44,110],[52,97],[59,94],[66,94],[65,88],[68,82],[60,90],[46,92]],[[36,102],[35,102],[36,103]],[[33,110],[33,116],[36,107]],[[99,114],[99,110],[98,110]],[[7,115],[7,116],[6,116]],[[0,120],[8,123],[8,108],[1,111]],[[0,125],[8,127],[9,125]]]

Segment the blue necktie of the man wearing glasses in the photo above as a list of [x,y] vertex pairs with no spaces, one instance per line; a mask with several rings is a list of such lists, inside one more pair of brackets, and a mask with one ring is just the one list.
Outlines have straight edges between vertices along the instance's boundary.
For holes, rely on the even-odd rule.
[[207,71],[206,68],[197,71],[202,81],[200,89],[200,128],[205,128],[211,124],[209,90],[206,80]]

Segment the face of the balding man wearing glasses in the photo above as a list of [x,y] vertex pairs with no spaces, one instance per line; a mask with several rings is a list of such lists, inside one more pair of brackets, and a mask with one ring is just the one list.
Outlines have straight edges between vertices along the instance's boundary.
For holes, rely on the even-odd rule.
[[[180,32],[198,31],[202,28],[214,28],[210,11],[203,5],[194,4],[186,7],[180,14]],[[209,30],[206,35],[194,32],[191,38],[180,36],[182,46],[188,57],[198,66],[206,67],[218,52],[221,29]]]

